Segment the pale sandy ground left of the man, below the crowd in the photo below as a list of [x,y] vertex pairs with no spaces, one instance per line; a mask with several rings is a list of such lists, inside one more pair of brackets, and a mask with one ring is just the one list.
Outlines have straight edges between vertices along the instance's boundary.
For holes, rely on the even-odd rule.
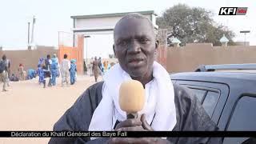
[[[101,80],[102,78],[99,78]],[[48,82],[49,79],[46,80]],[[78,76],[73,86],[42,88],[38,78],[10,82],[7,92],[0,84],[0,130],[53,130],[54,123],[65,113],[86,88],[94,84],[94,77]],[[47,143],[50,138],[0,138],[0,144]]]

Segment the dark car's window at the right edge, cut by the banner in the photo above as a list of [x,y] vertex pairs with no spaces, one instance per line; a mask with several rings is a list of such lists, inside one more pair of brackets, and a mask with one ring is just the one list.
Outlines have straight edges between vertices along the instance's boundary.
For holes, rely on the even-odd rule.
[[[230,118],[227,130],[256,130],[256,97],[244,96],[239,99]],[[224,143],[241,143],[248,138],[225,138]]]

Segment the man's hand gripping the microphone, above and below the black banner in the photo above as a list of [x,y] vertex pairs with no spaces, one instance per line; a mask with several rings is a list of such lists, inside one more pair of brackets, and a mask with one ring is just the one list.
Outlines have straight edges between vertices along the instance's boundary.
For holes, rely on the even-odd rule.
[[[142,114],[140,119],[133,118],[126,121],[119,122],[115,130],[120,131],[153,131],[153,128],[146,122],[145,114]],[[110,138],[110,144],[114,143],[155,143],[155,144],[169,144],[170,142],[162,138]]]

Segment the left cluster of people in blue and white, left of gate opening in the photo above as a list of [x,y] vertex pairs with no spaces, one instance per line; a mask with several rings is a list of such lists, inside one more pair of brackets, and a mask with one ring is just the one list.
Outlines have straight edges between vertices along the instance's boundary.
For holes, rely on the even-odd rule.
[[[10,86],[9,82],[18,82],[29,80],[38,76],[39,84],[43,84],[46,88],[46,79],[49,78],[47,86],[56,86],[56,78],[62,77],[62,86],[65,84],[74,85],[76,82],[77,66],[75,59],[68,59],[68,55],[64,54],[64,59],[61,64],[58,62],[56,54],[52,58],[47,54],[46,58],[39,58],[38,70],[28,69],[25,70],[22,63],[18,65],[18,76],[10,74],[10,60],[6,58],[6,54],[0,60],[0,82],[3,82],[2,91],[7,91],[6,87]],[[69,79],[70,78],[70,79]]]

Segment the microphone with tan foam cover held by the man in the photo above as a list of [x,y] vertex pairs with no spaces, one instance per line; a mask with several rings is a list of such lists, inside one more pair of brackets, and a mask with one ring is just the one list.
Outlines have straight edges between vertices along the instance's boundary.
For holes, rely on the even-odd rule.
[[137,80],[123,82],[119,89],[119,106],[126,111],[127,118],[138,118],[137,112],[143,109],[145,92]]

